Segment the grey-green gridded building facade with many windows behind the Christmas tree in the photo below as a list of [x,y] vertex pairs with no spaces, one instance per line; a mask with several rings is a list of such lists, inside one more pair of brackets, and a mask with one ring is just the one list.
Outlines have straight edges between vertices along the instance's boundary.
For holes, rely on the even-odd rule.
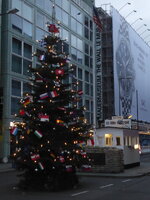
[[0,19],[0,158],[10,154],[9,126],[15,120],[23,94],[31,91],[28,66],[40,65],[32,53],[42,51],[37,41],[48,34],[46,23],[59,25],[65,51],[75,68],[73,79],[78,80],[79,89],[84,93],[79,106],[85,105],[86,118],[95,123],[93,3],[92,0],[0,1],[1,13],[11,8],[19,10]]

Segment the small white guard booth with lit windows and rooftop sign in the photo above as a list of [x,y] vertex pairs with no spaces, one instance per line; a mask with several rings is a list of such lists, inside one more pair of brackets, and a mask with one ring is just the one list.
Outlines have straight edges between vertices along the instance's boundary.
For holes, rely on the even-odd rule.
[[105,120],[105,127],[96,129],[95,146],[122,149],[125,167],[140,165],[139,134],[131,129],[131,119]]

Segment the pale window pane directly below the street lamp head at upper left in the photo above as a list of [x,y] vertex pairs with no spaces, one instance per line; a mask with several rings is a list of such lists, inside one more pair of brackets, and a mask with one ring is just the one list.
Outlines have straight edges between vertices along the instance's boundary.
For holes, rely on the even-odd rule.
[[15,29],[17,32],[22,33],[23,29],[23,22],[22,18],[17,15],[11,15],[12,19],[12,28]]

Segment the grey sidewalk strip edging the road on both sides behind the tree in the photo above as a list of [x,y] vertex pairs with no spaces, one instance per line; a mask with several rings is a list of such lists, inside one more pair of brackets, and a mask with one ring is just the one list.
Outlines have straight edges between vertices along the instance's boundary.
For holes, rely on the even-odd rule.
[[[0,163],[0,173],[15,171],[11,163]],[[114,178],[135,178],[150,174],[150,162],[141,162],[140,166],[125,169],[121,173],[92,173],[92,172],[78,172],[78,176],[95,176],[95,177],[114,177]]]

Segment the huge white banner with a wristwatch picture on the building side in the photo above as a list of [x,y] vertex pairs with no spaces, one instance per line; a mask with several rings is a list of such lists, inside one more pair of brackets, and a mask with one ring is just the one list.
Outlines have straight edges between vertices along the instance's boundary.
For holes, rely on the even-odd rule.
[[112,8],[115,114],[150,122],[150,47]]

